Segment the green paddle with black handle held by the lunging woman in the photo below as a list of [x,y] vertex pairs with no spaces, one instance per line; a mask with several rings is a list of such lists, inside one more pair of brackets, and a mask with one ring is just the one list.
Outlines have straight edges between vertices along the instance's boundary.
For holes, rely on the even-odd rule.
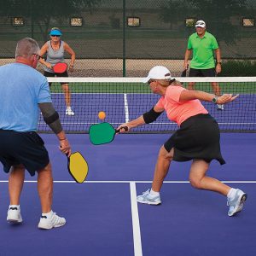
[[[122,128],[121,128],[122,129]],[[128,131],[128,127],[123,127],[125,131]],[[94,145],[102,145],[106,143],[111,143],[113,138],[119,130],[115,130],[112,125],[107,122],[101,124],[90,125],[89,135],[90,142]]]

